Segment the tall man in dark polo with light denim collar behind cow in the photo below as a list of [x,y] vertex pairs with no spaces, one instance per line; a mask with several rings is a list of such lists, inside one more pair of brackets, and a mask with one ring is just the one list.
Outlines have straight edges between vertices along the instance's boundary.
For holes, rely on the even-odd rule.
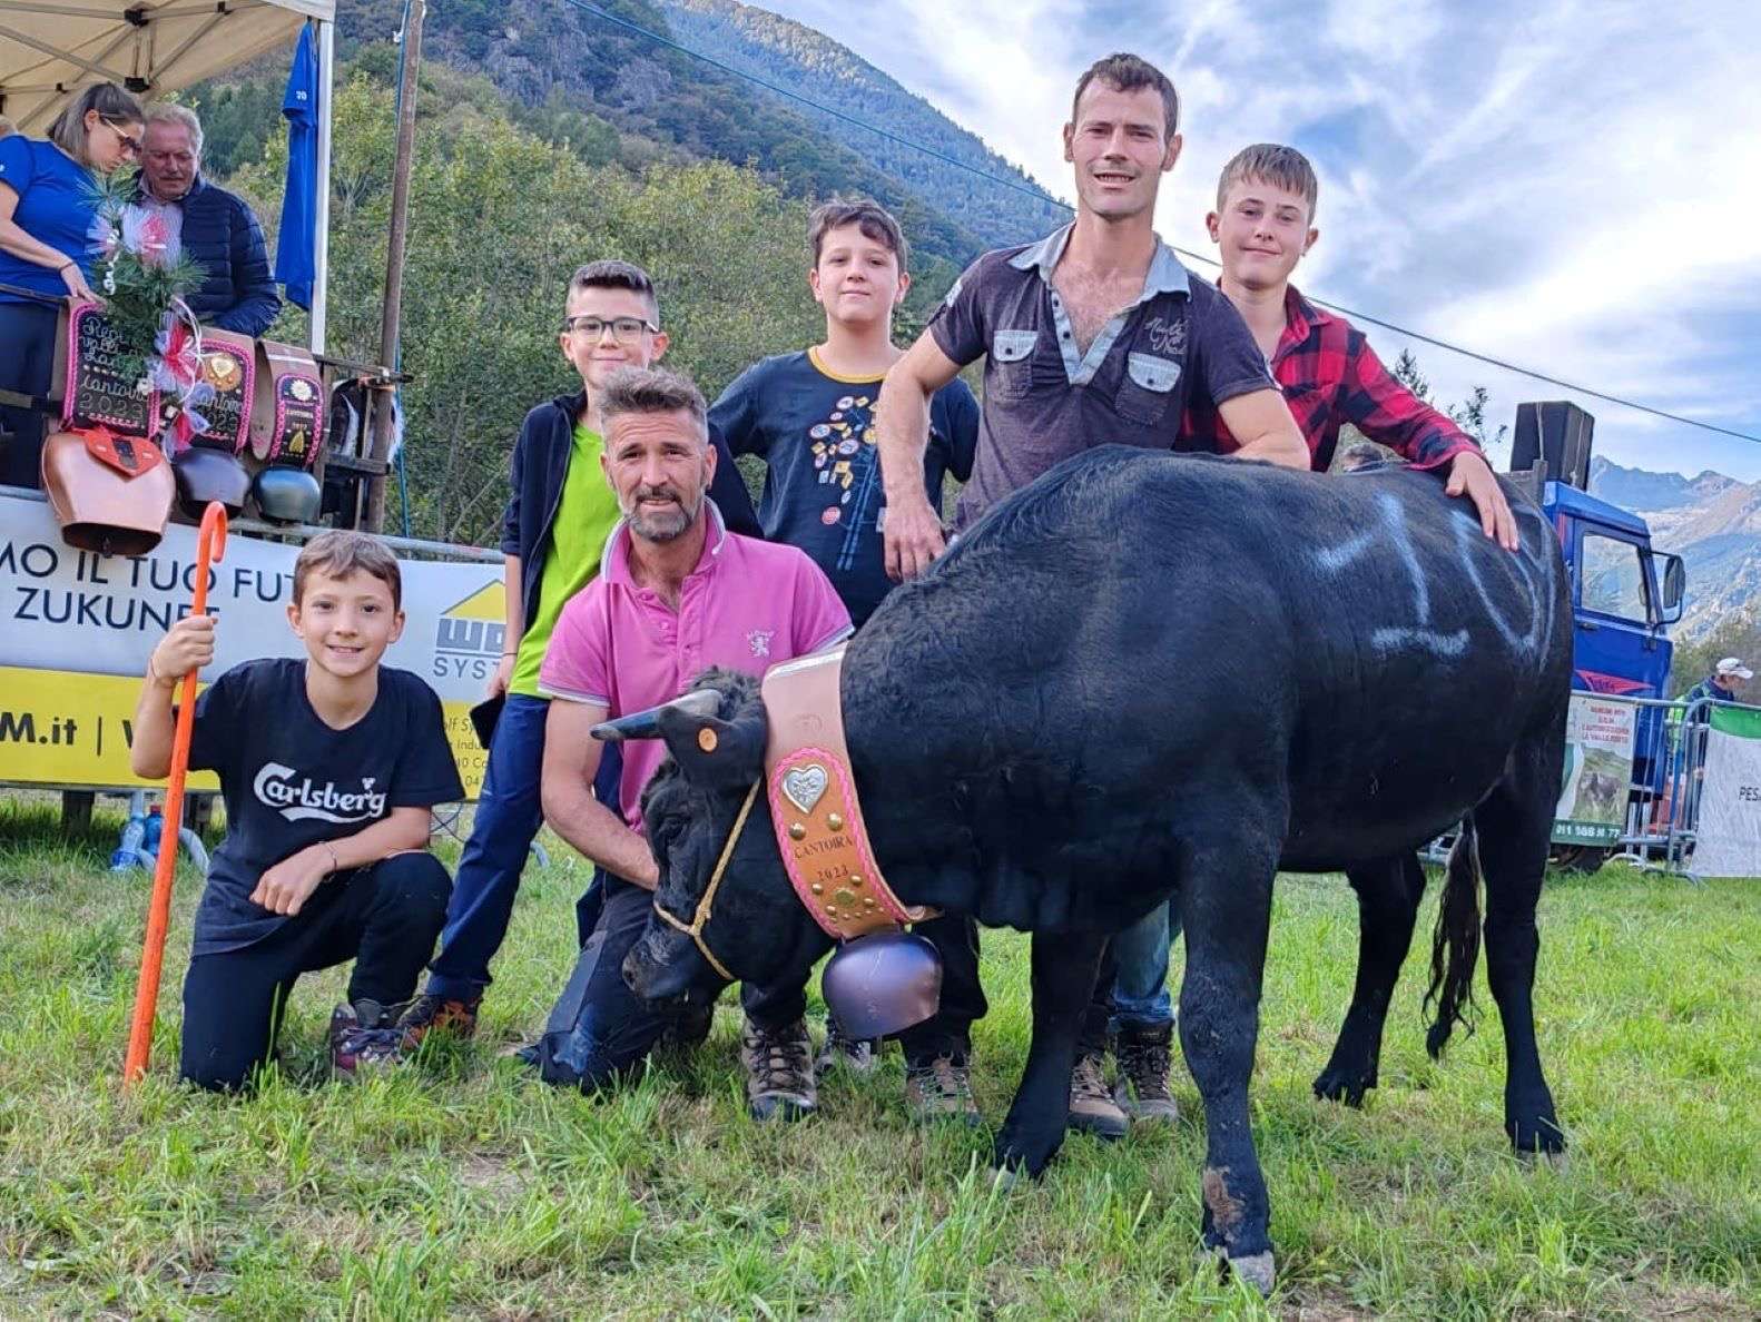
[[[944,549],[921,477],[930,400],[981,356],[984,414],[956,528],[1094,445],[1171,449],[1189,400],[1215,405],[1243,442],[1236,458],[1308,466],[1308,447],[1242,315],[1155,234],[1155,194],[1180,158],[1178,113],[1173,83],[1134,55],[1083,74],[1064,125],[1074,224],[979,257],[888,373],[879,445],[895,577],[916,577]],[[1111,984],[1108,961],[1071,1081],[1071,1125],[1118,1137],[1127,1120],[1102,1074]],[[919,1113],[970,1113],[969,1032],[969,1023],[937,1016],[900,1037]]]

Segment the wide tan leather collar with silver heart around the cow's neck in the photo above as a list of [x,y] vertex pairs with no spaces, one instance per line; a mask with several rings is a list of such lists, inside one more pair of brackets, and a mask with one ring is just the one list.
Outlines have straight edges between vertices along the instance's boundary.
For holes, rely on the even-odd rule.
[[764,785],[777,850],[796,896],[828,936],[898,931],[937,910],[905,905],[880,875],[844,743],[844,648],[764,676]]

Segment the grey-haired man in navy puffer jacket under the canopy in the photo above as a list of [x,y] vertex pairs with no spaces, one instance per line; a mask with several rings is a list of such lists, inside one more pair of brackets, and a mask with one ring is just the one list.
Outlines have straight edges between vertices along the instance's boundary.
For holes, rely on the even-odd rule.
[[148,106],[141,206],[157,211],[171,241],[206,271],[201,289],[185,301],[203,326],[262,334],[282,310],[262,225],[243,197],[208,183],[201,165],[203,125],[195,113],[164,102]]

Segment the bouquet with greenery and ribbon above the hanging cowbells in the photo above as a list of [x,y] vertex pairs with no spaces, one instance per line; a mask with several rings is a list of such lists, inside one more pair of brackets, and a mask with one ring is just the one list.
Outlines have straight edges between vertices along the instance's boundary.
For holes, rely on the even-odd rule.
[[93,174],[99,252],[99,292],[104,319],[122,345],[123,371],[146,394],[158,387],[166,422],[183,449],[208,430],[197,412],[213,400],[201,378],[201,324],[183,296],[201,287],[206,271],[174,250],[164,218],[136,201],[136,176]]

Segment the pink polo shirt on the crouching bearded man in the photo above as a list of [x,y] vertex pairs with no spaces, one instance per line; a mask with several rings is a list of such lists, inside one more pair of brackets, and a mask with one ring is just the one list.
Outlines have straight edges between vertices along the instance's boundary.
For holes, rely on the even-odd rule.
[[[731,533],[715,503],[704,503],[710,532],[678,611],[636,584],[630,532],[613,528],[599,577],[562,609],[539,671],[541,695],[627,716],[678,697],[711,665],[763,676],[851,632],[851,613],[803,551]],[[643,829],[643,787],[664,757],[660,739],[623,745],[618,799],[634,831]]]

